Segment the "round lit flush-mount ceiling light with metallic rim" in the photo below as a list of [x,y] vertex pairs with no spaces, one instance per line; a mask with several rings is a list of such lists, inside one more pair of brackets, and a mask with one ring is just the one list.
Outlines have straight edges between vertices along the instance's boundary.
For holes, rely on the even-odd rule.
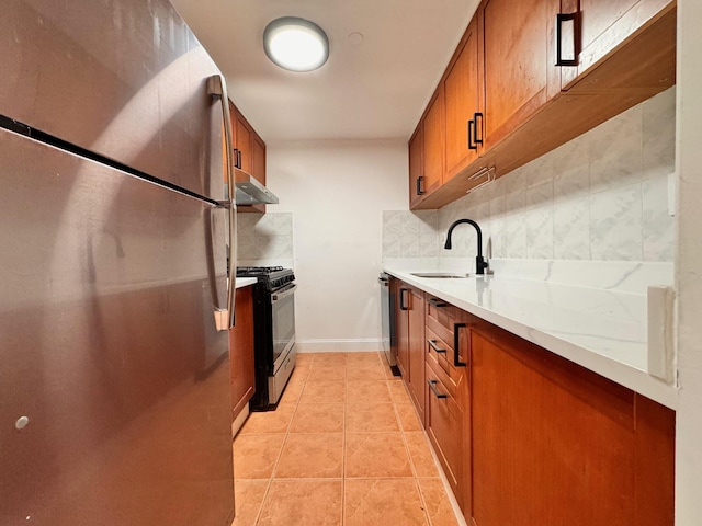
[[329,57],[329,39],[314,22],[283,16],[265,26],[263,49],[268,58],[283,69],[314,71]]

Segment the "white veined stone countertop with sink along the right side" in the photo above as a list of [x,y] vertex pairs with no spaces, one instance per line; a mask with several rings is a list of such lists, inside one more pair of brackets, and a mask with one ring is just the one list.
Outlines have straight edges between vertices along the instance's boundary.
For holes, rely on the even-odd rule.
[[388,274],[605,378],[676,409],[673,385],[647,370],[645,294],[500,275],[422,278],[439,268],[385,264]]

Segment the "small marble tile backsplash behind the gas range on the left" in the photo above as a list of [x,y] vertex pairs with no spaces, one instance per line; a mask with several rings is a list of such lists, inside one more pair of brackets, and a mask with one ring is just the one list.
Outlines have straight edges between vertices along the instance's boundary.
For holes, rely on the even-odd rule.
[[293,214],[237,215],[239,265],[293,266]]

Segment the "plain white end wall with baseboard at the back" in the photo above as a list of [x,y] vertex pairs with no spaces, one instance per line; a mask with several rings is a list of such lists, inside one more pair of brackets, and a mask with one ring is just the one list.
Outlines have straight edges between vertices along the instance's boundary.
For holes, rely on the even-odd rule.
[[382,215],[407,209],[406,141],[269,144],[270,211],[293,214],[298,351],[378,351]]

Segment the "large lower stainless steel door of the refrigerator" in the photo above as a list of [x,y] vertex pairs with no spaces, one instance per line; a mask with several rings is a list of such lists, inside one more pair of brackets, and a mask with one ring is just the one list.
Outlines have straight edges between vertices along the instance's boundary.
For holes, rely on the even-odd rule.
[[7,130],[0,186],[0,524],[229,526],[226,208]]

